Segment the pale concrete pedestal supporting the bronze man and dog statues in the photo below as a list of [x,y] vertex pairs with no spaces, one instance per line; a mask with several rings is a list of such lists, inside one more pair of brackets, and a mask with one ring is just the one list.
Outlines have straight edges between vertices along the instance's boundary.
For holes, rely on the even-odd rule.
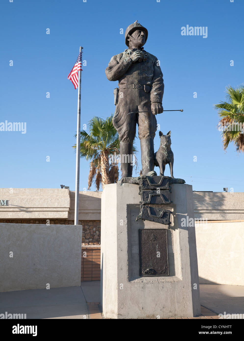
[[[200,314],[192,186],[172,184],[171,228],[136,221],[138,185],[109,184],[102,194],[101,305],[108,318],[192,317]],[[187,219],[188,216],[188,219]],[[186,227],[182,223],[185,218]],[[192,226],[192,224],[189,224]],[[193,223],[194,225],[194,223]],[[140,277],[138,229],[166,228],[169,276]]]

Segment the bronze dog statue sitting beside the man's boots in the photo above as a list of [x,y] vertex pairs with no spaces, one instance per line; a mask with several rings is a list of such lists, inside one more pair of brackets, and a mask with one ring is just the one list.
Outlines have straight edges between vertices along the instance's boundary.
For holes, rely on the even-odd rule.
[[173,163],[174,163],[174,154],[171,150],[171,139],[170,139],[171,131],[164,135],[161,131],[159,131],[160,136],[160,147],[156,153],[154,153],[154,166],[159,167],[160,175],[164,176],[165,165],[167,163],[170,167],[170,176],[173,178]]

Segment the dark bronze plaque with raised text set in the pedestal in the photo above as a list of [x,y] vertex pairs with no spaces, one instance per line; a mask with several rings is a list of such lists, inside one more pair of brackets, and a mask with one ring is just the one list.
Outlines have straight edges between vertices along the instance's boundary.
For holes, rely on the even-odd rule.
[[139,229],[140,276],[169,276],[167,231]]

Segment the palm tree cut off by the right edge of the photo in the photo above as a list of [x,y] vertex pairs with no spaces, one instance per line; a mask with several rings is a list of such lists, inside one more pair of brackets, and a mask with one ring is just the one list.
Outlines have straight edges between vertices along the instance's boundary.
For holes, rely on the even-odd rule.
[[223,148],[227,149],[233,142],[238,152],[244,152],[244,134],[242,127],[244,123],[244,86],[232,88],[226,87],[226,102],[215,105],[220,117],[218,126],[222,127]]

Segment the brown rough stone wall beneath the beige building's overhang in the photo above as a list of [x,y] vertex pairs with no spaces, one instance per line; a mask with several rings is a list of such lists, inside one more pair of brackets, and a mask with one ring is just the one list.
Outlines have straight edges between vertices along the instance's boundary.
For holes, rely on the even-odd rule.
[[[50,225],[74,225],[74,220],[65,219],[0,219],[0,223],[12,224],[47,224]],[[82,244],[100,245],[101,243],[101,220],[79,220],[82,225]]]

